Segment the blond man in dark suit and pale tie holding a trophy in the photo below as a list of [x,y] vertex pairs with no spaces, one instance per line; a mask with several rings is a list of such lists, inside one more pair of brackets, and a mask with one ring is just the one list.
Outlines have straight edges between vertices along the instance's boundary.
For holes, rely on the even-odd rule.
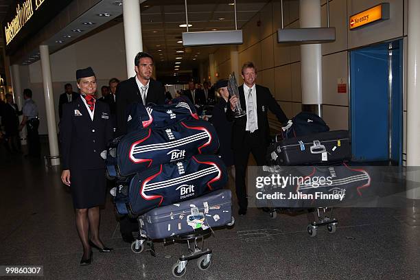
[[268,128],[268,109],[274,113],[282,124],[287,124],[288,117],[283,113],[279,104],[265,86],[255,84],[257,69],[253,62],[246,62],[242,66],[244,84],[239,87],[240,103],[246,115],[235,117],[237,97],[231,97],[230,106],[226,110],[227,119],[233,121],[232,149],[235,161],[235,188],[240,206],[239,214],[245,215],[248,207],[245,187],[245,172],[248,156],[252,152],[257,165],[265,164],[266,150],[270,141]]

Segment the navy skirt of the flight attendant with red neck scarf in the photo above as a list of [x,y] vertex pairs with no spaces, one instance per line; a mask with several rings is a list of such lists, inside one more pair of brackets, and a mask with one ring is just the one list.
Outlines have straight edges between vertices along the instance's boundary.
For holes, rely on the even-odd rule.
[[105,170],[70,170],[70,189],[75,209],[105,204]]

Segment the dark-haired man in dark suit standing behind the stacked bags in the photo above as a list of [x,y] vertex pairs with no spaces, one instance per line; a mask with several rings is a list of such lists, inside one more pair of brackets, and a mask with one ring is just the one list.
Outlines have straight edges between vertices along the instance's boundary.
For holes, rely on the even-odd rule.
[[161,82],[152,79],[153,58],[150,54],[139,52],[135,57],[136,75],[122,81],[117,86],[116,113],[117,136],[127,132],[126,107],[135,102],[143,104],[165,104],[165,88]]

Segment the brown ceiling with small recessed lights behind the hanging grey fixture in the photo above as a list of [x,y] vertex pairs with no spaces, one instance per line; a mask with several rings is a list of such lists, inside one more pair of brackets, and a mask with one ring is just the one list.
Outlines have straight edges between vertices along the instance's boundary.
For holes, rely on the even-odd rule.
[[[268,0],[237,0],[237,28],[240,29]],[[230,4],[230,5],[229,5]],[[235,30],[233,0],[187,1],[190,32]],[[180,60],[179,73],[198,68],[218,47],[183,47],[185,27],[184,0],[148,0],[141,4],[143,43],[155,57],[160,73],[174,73],[174,62]],[[176,52],[178,51],[178,52]],[[180,51],[185,51],[184,53]]]

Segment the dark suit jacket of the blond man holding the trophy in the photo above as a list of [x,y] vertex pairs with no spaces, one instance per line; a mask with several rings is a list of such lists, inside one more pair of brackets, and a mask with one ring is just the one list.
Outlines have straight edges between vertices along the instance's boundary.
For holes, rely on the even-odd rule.
[[[255,85],[257,91],[257,117],[258,117],[258,130],[261,144],[268,145],[270,142],[270,128],[268,127],[268,109],[274,113],[282,124],[288,122],[283,110],[281,110],[279,104],[277,104],[274,97],[270,93],[270,89],[265,86]],[[239,86],[240,102],[242,109],[246,110],[244,86]],[[234,117],[234,113],[231,110],[231,106],[228,106],[226,110],[226,117],[229,121],[233,121],[232,127],[232,149],[240,149],[245,138],[246,131],[246,115],[243,117]]]

